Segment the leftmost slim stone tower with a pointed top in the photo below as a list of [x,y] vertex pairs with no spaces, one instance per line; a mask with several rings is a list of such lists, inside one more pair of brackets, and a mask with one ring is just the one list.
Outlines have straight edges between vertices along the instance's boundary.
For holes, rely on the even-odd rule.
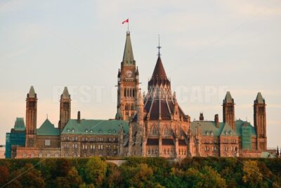
[[26,138],[25,146],[34,147],[36,140],[37,129],[37,94],[34,91],[34,87],[30,87],[30,92],[27,94],[26,99]]

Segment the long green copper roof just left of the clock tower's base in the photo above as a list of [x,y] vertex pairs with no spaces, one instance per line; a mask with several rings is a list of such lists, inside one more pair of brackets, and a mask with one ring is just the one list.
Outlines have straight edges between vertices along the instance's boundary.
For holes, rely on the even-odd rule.
[[129,130],[129,123],[124,120],[68,120],[62,134],[118,134],[123,127],[124,134]]

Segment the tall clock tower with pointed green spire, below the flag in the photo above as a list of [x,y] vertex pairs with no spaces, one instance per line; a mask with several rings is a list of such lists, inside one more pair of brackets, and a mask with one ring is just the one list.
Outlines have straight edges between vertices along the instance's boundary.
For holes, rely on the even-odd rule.
[[121,68],[118,70],[117,120],[131,120],[136,113],[138,92],[138,68],[133,58],[130,32],[126,33],[126,42]]

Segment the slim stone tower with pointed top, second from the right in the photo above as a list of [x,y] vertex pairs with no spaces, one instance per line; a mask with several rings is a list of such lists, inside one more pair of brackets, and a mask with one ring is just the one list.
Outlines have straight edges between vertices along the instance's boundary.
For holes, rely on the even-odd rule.
[[235,130],[235,110],[234,99],[230,92],[226,93],[226,98],[223,100],[223,122],[228,123]]

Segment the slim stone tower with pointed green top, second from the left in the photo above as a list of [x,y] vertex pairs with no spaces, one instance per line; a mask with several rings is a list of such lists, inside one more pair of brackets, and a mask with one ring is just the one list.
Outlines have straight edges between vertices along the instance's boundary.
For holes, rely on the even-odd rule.
[[60,122],[58,123],[60,131],[63,130],[67,121],[70,119],[71,99],[67,87],[63,89],[63,94],[60,95]]

